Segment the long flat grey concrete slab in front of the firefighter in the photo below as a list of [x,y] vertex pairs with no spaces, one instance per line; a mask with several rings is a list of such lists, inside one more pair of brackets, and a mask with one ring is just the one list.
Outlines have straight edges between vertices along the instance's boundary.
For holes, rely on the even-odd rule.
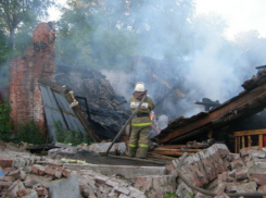
[[166,175],[165,166],[135,166],[135,165],[102,165],[102,164],[72,164],[63,165],[69,170],[86,170],[99,171],[105,175],[118,174],[128,180],[135,180],[138,176],[148,175]]

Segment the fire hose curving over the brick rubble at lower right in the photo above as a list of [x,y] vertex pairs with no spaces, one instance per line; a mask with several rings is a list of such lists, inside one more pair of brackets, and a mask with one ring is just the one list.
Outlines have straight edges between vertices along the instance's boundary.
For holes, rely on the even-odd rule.
[[[179,165],[178,165],[178,176],[181,178],[181,181],[187,184],[190,188],[197,190],[197,191],[200,191],[201,194],[204,194],[204,195],[207,195],[207,196],[211,196],[211,197],[215,197],[217,195],[217,193],[213,193],[213,191],[208,191],[208,190],[205,190],[205,189],[202,189],[198,186],[194,186],[193,184],[191,184],[182,174],[181,174],[181,166],[182,166],[182,163],[185,161],[185,158],[188,156],[188,152],[185,152],[181,157],[181,160],[179,162]],[[237,194],[226,194],[227,196],[229,197],[263,197],[263,196],[266,196],[266,193],[237,193]]]

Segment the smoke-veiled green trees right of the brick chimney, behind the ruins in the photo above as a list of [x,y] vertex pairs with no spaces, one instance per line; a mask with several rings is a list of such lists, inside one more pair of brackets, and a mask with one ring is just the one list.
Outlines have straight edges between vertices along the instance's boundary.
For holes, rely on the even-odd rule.
[[176,59],[191,48],[192,0],[69,0],[58,23],[56,63],[128,70],[128,58]]

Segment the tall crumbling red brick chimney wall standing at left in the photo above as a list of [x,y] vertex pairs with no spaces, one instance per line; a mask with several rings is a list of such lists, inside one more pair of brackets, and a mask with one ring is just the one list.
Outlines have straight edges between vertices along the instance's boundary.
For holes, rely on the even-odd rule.
[[33,44],[23,55],[11,63],[10,100],[14,126],[26,121],[36,121],[45,128],[45,109],[38,79],[52,78],[54,65],[54,24],[40,23],[34,30]]

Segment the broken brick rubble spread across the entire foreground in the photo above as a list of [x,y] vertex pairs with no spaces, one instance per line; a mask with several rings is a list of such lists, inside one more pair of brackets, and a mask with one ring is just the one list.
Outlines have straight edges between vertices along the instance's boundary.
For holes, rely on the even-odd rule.
[[[48,157],[37,157],[24,150],[24,145],[18,146],[0,143],[0,197],[161,198],[166,193],[185,198],[192,194],[207,197],[193,186],[215,193],[216,197],[266,193],[266,151],[257,146],[231,153],[226,145],[215,144],[188,156],[181,164],[181,172],[178,171],[181,158],[177,158],[165,166],[153,168],[157,170],[155,174],[142,174],[141,166],[130,169],[130,174],[123,174],[127,165],[109,168],[90,164],[89,158],[86,161],[62,158],[63,152],[72,154],[83,147],[60,149],[60,153],[59,149],[51,149]],[[105,148],[104,144],[91,147],[98,151],[94,152],[98,158],[101,158],[100,146]],[[114,172],[107,173],[110,169]],[[192,186],[183,183],[181,175]]]

